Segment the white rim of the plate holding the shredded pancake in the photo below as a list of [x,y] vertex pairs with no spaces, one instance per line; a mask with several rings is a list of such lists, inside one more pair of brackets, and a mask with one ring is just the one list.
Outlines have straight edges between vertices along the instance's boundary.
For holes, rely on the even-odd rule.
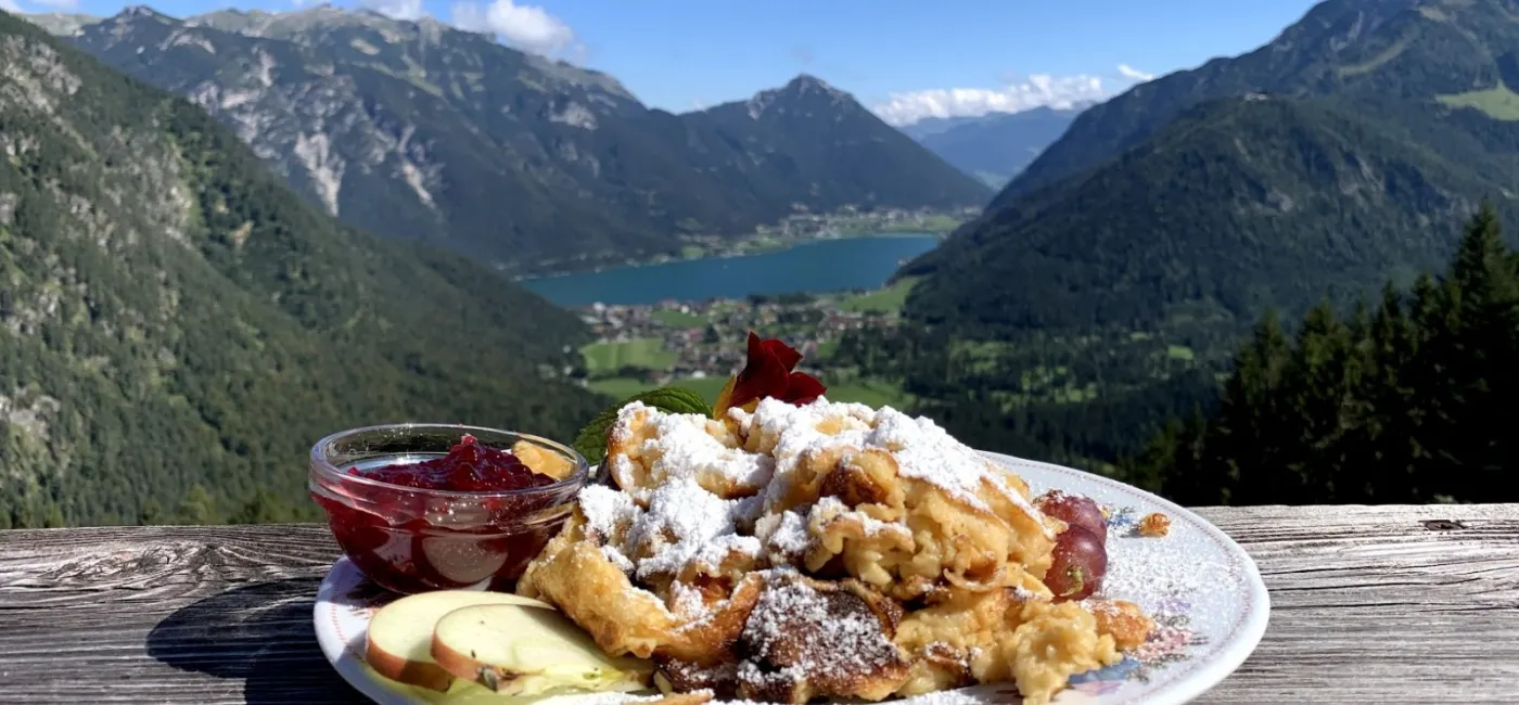
[[[1164,497],[1095,473],[1048,462],[1028,460],[1003,453],[978,453],[1013,469],[1028,468],[1036,473],[1071,477],[1080,483],[1098,485],[1106,491],[1124,495],[1126,498],[1133,500],[1135,504],[1154,506],[1171,518],[1173,526],[1180,521],[1195,530],[1200,536],[1206,536],[1208,542],[1212,544],[1218,555],[1224,556],[1230,565],[1238,570],[1235,591],[1240,594],[1240,608],[1236,609],[1238,614],[1233,617],[1233,623],[1227,628],[1227,632],[1221,638],[1211,641],[1205,652],[1186,659],[1185,664],[1177,664],[1179,669],[1168,670],[1165,679],[1159,682],[1156,688],[1130,693],[1121,700],[1098,700],[1100,705],[1186,703],[1223,682],[1229,675],[1238,670],[1240,665],[1244,664],[1250,653],[1253,653],[1259,646],[1265,635],[1267,624],[1270,623],[1270,593],[1267,591],[1265,582],[1261,577],[1261,570],[1250,553],[1246,552],[1236,541],[1229,538],[1227,533],[1214,526],[1214,523]],[[404,690],[381,684],[378,681],[380,676],[369,672],[363,665],[358,655],[352,653],[349,649],[343,629],[337,623],[336,609],[339,605],[334,602],[334,597],[340,596],[333,594],[339,586],[337,582],[334,582],[334,577],[346,576],[349,573],[357,573],[357,567],[354,567],[346,558],[340,556],[334,561],[333,567],[322,579],[321,588],[317,590],[311,617],[322,655],[327,656],[327,661],[333,664],[333,669],[343,678],[343,681],[352,685],[365,697],[369,697],[380,705],[415,705],[427,702],[422,697],[406,694]],[[986,684],[983,687],[989,685],[995,684]]]

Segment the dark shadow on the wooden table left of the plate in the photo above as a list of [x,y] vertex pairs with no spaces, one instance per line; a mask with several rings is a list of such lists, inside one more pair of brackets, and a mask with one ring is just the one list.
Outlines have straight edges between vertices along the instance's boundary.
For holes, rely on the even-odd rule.
[[175,669],[245,679],[251,705],[368,702],[316,644],[311,608],[319,583],[293,577],[197,600],[153,626],[147,653]]

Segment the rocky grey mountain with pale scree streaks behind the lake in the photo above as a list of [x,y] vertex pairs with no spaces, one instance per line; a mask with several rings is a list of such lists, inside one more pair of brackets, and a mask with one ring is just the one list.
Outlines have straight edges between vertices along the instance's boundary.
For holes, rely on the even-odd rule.
[[[70,41],[207,108],[328,214],[501,269],[647,258],[797,208],[990,198],[910,140],[878,140],[846,94],[814,103],[805,87],[826,85],[811,77],[749,102],[773,102],[769,115],[674,115],[483,33],[331,6],[188,20],[132,8]],[[873,137],[837,138],[851,132]]]

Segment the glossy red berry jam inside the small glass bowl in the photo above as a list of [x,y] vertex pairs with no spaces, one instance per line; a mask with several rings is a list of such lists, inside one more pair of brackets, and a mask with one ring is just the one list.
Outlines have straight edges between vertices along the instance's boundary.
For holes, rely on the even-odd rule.
[[561,492],[480,498],[425,492],[503,492],[557,482],[474,436],[463,436],[442,457],[352,466],[346,473],[387,485],[343,485],[352,501],[321,492],[313,497],[327,509],[333,536],[348,559],[396,593],[482,585],[510,591],[568,517],[570,495]]

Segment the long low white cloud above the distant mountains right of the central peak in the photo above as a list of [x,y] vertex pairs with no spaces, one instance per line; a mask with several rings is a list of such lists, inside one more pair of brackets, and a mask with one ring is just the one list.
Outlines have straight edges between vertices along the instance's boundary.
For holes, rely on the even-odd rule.
[[893,93],[875,114],[890,125],[911,125],[925,117],[984,115],[1018,112],[1042,105],[1069,108],[1083,100],[1101,100],[1112,91],[1097,76],[1050,76],[1036,73],[1003,88],[934,88]]

